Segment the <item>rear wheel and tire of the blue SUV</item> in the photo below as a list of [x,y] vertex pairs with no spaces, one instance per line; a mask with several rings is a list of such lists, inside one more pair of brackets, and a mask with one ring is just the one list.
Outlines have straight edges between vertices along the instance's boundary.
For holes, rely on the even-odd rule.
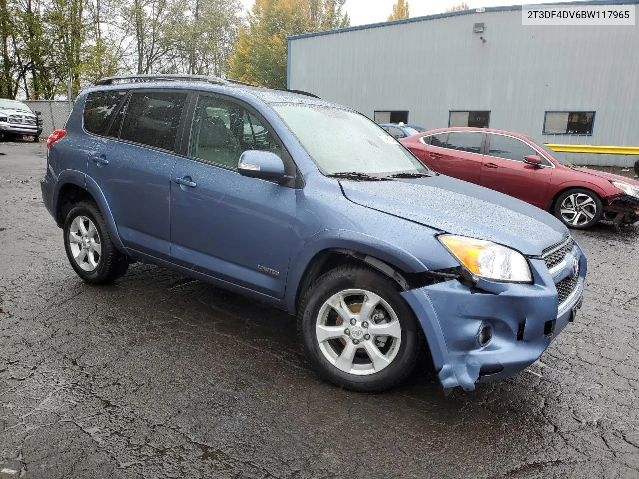
[[84,281],[109,284],[127,272],[128,258],[111,241],[102,213],[93,201],[73,205],[66,215],[64,234],[66,257]]

